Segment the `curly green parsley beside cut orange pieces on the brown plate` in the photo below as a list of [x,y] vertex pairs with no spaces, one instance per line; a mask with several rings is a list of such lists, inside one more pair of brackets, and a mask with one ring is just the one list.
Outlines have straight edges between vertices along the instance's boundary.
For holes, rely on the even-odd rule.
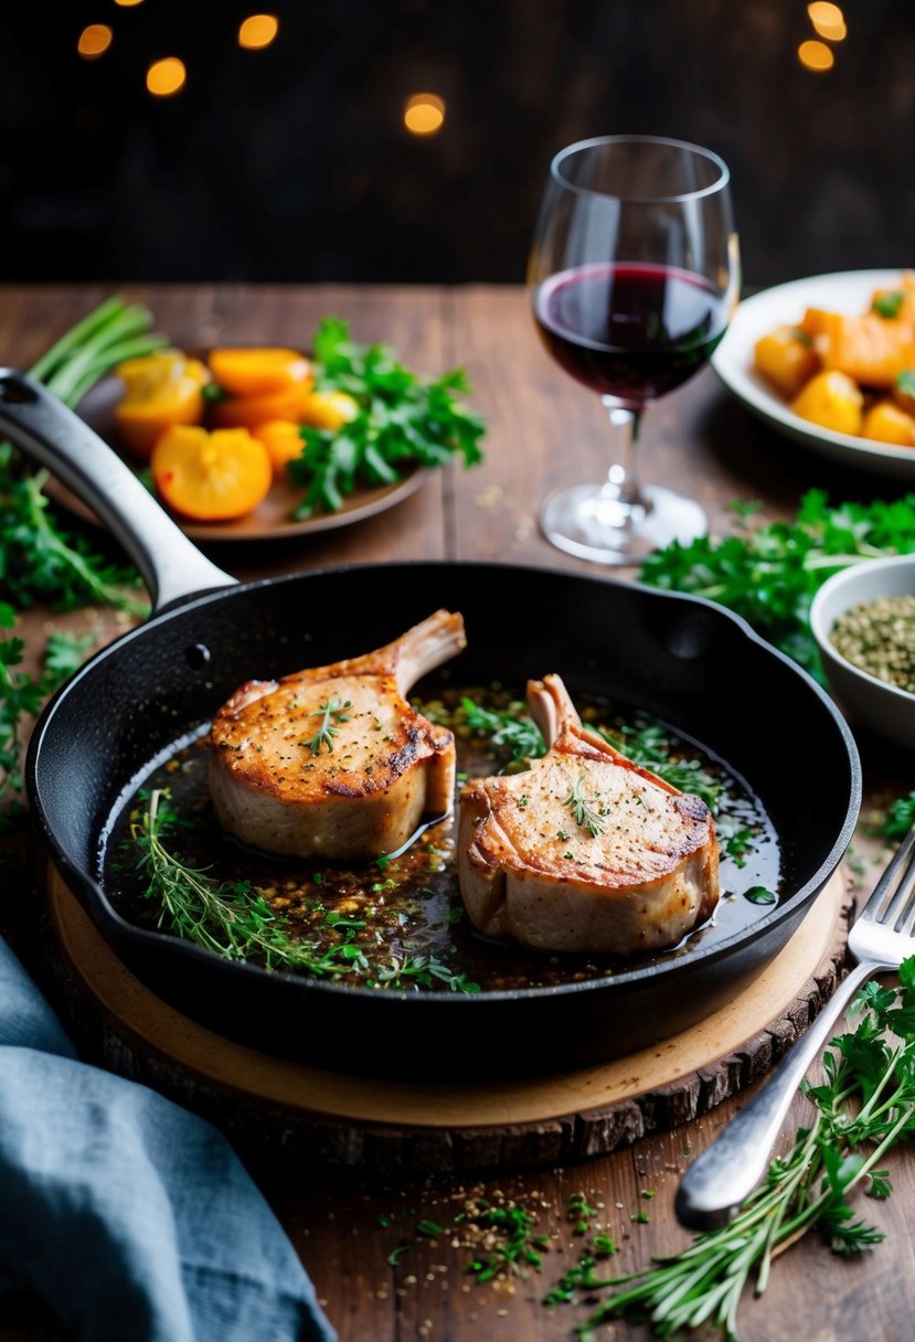
[[470,392],[463,369],[423,381],[386,345],[357,345],[349,322],[325,318],[313,341],[315,384],[346,392],[360,413],[337,432],[302,428],[302,455],[290,462],[305,488],[295,517],[335,513],[357,484],[394,484],[415,466],[441,466],[455,454],[480,462],[484,423],[456,400]]

